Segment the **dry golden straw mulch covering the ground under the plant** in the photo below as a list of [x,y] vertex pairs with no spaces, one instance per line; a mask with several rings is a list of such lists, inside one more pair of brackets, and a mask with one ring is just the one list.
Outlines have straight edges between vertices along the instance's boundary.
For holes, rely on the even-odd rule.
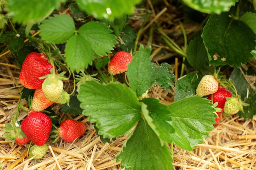
[[[10,56],[9,56],[10,57]],[[0,136],[5,123],[12,121],[17,108],[20,89],[18,80],[19,69],[9,63],[9,57],[0,58]],[[67,87],[70,88],[70,87]],[[158,86],[152,86],[149,95],[160,99],[168,105],[173,101],[172,92]],[[27,107],[23,99],[21,105]],[[87,122],[83,115],[72,116],[60,112],[60,105],[54,106],[54,111],[61,120],[71,118],[86,123],[86,133],[73,143],[62,139],[55,144],[49,144],[49,150],[43,159],[35,161],[27,158],[29,145],[12,146],[11,141],[0,138],[0,166],[4,170],[120,170],[120,162],[116,162],[116,154],[121,150],[127,134],[116,138],[111,144],[101,142],[93,124]],[[26,112],[20,110],[18,121],[24,119]],[[198,144],[193,152],[174,146],[174,166],[176,170],[254,170],[256,169],[256,117],[245,121],[233,116],[215,125],[210,132],[210,138],[204,144]],[[133,129],[131,129],[132,131]]]

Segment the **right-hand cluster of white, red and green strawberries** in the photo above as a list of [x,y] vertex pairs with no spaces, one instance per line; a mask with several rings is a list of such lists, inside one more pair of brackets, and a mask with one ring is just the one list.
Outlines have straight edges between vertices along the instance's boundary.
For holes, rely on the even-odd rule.
[[219,82],[220,80],[216,76],[206,75],[201,79],[196,89],[198,96],[207,96],[207,99],[215,104],[218,115],[218,118],[215,119],[216,123],[221,120],[223,111],[229,115],[243,111],[243,102],[241,102],[239,96],[232,97],[230,91],[219,85]]

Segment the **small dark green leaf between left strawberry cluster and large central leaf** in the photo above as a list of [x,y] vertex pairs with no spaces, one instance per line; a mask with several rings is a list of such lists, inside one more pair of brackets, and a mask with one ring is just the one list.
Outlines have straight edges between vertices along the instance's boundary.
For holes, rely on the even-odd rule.
[[68,114],[79,115],[83,109],[80,108],[81,102],[77,99],[77,92],[70,96],[69,106],[67,103],[62,105],[61,111]]

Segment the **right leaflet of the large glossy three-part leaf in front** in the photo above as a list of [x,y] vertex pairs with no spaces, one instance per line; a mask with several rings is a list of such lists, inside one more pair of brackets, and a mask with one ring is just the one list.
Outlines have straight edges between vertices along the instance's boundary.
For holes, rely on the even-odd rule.
[[205,98],[191,96],[172,103],[168,109],[172,118],[169,124],[175,129],[175,133],[170,134],[171,139],[182,149],[192,150],[214,129],[215,108]]

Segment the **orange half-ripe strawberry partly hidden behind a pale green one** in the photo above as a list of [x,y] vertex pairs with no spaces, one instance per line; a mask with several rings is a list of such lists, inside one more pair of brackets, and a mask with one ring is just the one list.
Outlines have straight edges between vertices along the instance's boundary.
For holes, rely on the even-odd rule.
[[42,89],[35,90],[35,94],[32,100],[32,109],[34,111],[44,111],[44,109],[48,108],[53,103],[54,102],[47,100]]

